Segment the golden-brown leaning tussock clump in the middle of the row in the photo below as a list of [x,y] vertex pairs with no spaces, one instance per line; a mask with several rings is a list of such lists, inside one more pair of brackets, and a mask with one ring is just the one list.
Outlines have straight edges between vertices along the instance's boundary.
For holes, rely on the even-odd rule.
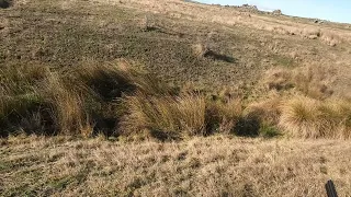
[[127,115],[121,131],[133,135],[148,131],[160,139],[176,139],[205,131],[205,100],[200,95],[154,96],[141,92],[125,96]]

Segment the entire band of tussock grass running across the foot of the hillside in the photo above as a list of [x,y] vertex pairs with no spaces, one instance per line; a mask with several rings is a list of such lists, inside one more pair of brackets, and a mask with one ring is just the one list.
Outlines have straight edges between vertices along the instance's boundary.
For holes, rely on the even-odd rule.
[[[136,71],[126,61],[86,62],[65,72],[41,65],[4,67],[1,73],[2,136],[24,131],[169,140],[220,132],[350,138],[351,106],[342,100],[296,96],[245,104],[219,95],[208,99],[196,90],[171,88],[145,71]],[[308,95],[310,81],[305,81],[298,80],[297,88],[302,92],[306,89]],[[286,80],[280,77],[272,83],[270,88],[286,86]]]

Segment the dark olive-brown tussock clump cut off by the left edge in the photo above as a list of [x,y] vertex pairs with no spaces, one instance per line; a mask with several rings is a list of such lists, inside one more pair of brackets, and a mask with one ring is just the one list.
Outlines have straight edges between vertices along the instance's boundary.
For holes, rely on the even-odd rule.
[[25,126],[39,129],[44,99],[38,83],[48,72],[42,65],[0,69],[0,136]]

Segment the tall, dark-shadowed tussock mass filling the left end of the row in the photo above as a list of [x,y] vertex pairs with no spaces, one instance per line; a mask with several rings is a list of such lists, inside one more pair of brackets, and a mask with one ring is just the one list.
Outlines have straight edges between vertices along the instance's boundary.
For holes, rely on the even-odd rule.
[[[67,73],[45,66],[1,69],[1,136],[24,130],[48,135],[91,136],[104,107],[133,84],[126,71],[89,63]],[[117,118],[117,117],[116,117]]]

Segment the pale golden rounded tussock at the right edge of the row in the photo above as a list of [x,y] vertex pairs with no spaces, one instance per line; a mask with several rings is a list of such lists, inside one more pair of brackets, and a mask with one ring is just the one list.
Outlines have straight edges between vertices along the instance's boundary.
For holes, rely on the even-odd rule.
[[299,96],[283,104],[279,125],[293,137],[350,139],[351,104]]

